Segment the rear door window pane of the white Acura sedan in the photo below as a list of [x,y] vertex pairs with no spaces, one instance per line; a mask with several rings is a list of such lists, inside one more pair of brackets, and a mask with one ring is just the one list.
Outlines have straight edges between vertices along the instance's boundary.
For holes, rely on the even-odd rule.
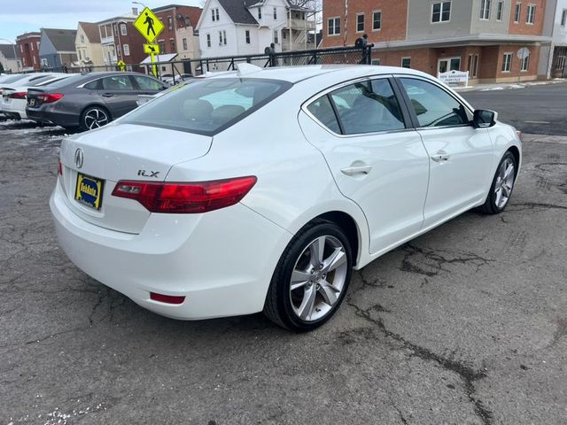
[[[375,91],[376,90],[376,91]],[[361,81],[330,94],[346,135],[405,128],[400,105],[387,80]]]

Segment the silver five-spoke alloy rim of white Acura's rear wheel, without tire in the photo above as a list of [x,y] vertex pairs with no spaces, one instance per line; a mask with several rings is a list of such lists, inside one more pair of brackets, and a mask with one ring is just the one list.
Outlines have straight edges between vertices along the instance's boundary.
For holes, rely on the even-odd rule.
[[319,236],[299,255],[291,273],[290,299],[301,321],[318,321],[337,304],[347,275],[345,247],[334,236]]

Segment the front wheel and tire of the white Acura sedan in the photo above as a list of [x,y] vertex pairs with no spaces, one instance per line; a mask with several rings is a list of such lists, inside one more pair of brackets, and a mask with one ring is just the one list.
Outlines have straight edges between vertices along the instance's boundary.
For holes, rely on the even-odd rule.
[[506,209],[514,190],[517,176],[517,161],[512,152],[507,151],[501,158],[493,183],[490,186],[485,204],[479,210],[485,214],[498,214]]

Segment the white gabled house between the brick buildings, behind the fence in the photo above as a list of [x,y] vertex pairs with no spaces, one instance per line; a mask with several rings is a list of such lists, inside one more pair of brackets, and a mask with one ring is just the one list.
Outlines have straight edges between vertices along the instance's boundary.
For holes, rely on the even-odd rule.
[[315,17],[288,0],[206,0],[197,24],[202,58],[314,48]]

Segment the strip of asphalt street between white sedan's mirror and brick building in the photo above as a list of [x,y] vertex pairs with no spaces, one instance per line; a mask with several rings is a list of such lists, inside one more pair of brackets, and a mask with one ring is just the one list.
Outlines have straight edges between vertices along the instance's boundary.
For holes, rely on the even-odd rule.
[[567,135],[567,81],[522,89],[466,91],[461,96],[476,109],[492,109],[499,120],[524,133]]

